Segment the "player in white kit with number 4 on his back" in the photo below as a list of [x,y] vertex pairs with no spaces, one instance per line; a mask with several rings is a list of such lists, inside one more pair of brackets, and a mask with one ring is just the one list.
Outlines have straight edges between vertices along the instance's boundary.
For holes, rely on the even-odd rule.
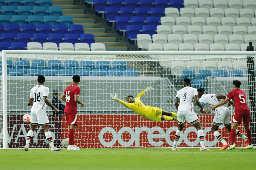
[[[198,101],[197,97],[197,90],[191,86],[190,79],[184,79],[183,83],[184,88],[180,89],[177,92],[176,98],[175,98],[175,106],[176,109],[178,110],[178,130],[176,131],[175,134],[175,139],[174,139],[174,145],[172,147],[173,150],[179,150],[177,148],[177,144],[180,138],[180,135],[182,135],[182,131],[184,128],[185,120],[187,120],[189,125],[195,126],[197,129],[197,134],[199,137],[200,141],[200,151],[210,151],[205,147],[204,144],[204,132],[203,128],[200,124],[200,121],[196,115],[196,113],[193,111],[193,101],[195,99],[195,102],[197,106],[202,109],[203,114],[210,114],[211,111],[204,110],[204,108],[201,106],[200,102]],[[180,102],[180,103],[179,103]]]

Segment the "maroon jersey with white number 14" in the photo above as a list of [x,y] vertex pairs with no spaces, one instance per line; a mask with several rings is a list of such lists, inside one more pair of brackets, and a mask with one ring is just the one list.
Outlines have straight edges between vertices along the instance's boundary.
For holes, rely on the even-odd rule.
[[66,96],[64,112],[77,114],[77,102],[75,102],[75,96],[79,96],[80,87],[76,84],[72,84],[66,88],[63,94]]

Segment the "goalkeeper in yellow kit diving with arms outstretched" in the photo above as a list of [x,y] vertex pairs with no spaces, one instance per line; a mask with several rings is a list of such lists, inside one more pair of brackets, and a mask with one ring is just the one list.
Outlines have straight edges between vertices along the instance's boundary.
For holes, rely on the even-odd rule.
[[151,107],[151,106],[145,106],[141,101],[141,96],[152,90],[153,87],[147,87],[145,90],[143,90],[138,96],[134,99],[133,96],[127,96],[126,100],[127,102],[124,102],[123,100],[120,100],[116,93],[115,95],[110,95],[112,100],[118,101],[119,103],[122,103],[126,108],[131,109],[138,115],[140,115],[142,118],[152,120],[155,122],[160,122],[161,120],[175,120],[177,121],[177,114],[173,112],[167,112],[162,109]]

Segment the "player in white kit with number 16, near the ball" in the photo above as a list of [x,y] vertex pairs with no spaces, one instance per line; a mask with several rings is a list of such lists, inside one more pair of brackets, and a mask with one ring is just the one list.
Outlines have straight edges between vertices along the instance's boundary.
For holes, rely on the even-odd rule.
[[46,104],[54,109],[55,113],[59,113],[58,109],[54,107],[48,100],[49,88],[45,87],[45,77],[39,75],[37,77],[38,85],[30,90],[29,104],[32,106],[30,112],[30,130],[27,134],[26,145],[24,151],[28,151],[30,140],[33,137],[33,133],[36,129],[36,125],[42,126],[45,130],[46,140],[49,142],[51,151],[60,151],[61,148],[54,147],[53,139],[49,129],[49,119],[46,114]]

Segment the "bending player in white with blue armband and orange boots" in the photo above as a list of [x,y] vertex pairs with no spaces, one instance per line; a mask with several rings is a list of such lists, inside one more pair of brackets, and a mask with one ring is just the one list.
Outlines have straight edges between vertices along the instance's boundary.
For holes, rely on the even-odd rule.
[[[224,100],[226,99],[226,96],[223,96],[223,95],[205,94],[204,88],[199,88],[197,92],[198,92],[198,97],[200,98],[199,101],[202,107],[204,106],[212,107],[220,103],[219,99],[224,99]],[[202,112],[201,109],[200,111]],[[226,142],[221,137],[221,134],[218,132],[219,126],[223,125],[223,123],[225,124],[226,128],[230,132],[231,130],[230,112],[225,105],[219,106],[215,109],[215,115],[211,125],[211,133],[223,144],[222,148],[220,148],[219,150],[224,150],[229,147],[228,142]],[[236,134],[239,137],[243,138],[245,141],[248,140],[248,138],[237,129],[236,129]]]

